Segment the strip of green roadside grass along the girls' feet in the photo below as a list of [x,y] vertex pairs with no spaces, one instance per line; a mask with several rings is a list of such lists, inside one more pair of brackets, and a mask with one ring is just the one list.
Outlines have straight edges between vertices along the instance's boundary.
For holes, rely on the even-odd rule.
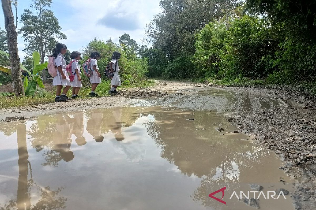
[[[122,84],[119,88],[135,88],[135,87],[151,87],[154,86],[155,82],[150,80],[145,80],[143,82],[140,82],[138,84]],[[118,89],[119,89],[118,88]],[[68,97],[71,97],[71,88],[68,91],[67,95]],[[108,91],[110,90],[110,81],[103,81],[98,85],[96,88],[96,93],[100,95],[100,97],[108,97],[110,96]],[[82,99],[90,98],[88,95],[91,91],[91,88],[86,86],[80,89],[80,92],[78,95],[82,97]],[[40,104],[48,104],[55,101],[56,96],[56,89],[54,88],[52,91],[46,92],[45,94],[39,95],[36,94],[33,97],[0,97],[0,109],[6,109],[6,108],[22,108],[22,107],[28,107],[30,105],[40,105]],[[79,100],[79,99],[76,99]]]

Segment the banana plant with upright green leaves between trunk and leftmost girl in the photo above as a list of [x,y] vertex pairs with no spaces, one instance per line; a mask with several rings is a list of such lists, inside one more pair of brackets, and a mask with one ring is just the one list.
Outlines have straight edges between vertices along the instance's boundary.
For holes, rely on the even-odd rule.
[[33,74],[31,74],[30,71],[27,71],[30,77],[24,77],[23,82],[25,96],[35,95],[37,85],[39,85],[40,88],[45,88],[38,73],[47,68],[47,65],[47,62],[40,64],[40,54],[36,51],[33,52]]

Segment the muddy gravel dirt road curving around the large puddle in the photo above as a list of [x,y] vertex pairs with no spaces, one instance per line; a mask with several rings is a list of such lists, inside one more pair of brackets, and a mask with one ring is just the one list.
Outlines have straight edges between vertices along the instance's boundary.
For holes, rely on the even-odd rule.
[[247,134],[254,144],[276,152],[285,161],[280,169],[296,182],[296,190],[292,193],[296,209],[316,209],[316,110],[313,99],[277,90],[223,88],[191,82],[156,83],[151,88],[120,90],[121,94],[115,97],[3,109],[0,110],[0,120],[23,120],[94,108],[156,105],[219,113],[237,126],[235,132]]

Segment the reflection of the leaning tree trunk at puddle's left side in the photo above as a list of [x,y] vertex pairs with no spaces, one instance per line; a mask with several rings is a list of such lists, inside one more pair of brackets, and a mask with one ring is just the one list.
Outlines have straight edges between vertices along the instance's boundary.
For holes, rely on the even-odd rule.
[[[2,126],[1,131],[7,130],[7,126]],[[32,177],[31,163],[28,161],[28,151],[26,142],[26,125],[19,123],[14,126],[8,125],[11,130],[15,130],[17,134],[17,146],[18,146],[18,166],[19,166],[19,178],[16,200],[10,200],[8,204],[1,207],[0,210],[41,210],[41,209],[61,209],[65,208],[66,198],[63,196],[58,197],[58,190],[50,190],[50,187],[45,188],[38,186]],[[30,171],[30,179],[28,179],[28,172]],[[35,188],[38,194],[38,200],[35,204],[31,204],[31,189]]]

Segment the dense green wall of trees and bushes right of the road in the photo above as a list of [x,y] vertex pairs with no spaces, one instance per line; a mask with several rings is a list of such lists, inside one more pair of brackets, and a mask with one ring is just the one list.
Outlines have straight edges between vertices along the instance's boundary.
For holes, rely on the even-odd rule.
[[160,6],[146,30],[154,46],[145,54],[149,76],[316,82],[315,1],[161,0]]

